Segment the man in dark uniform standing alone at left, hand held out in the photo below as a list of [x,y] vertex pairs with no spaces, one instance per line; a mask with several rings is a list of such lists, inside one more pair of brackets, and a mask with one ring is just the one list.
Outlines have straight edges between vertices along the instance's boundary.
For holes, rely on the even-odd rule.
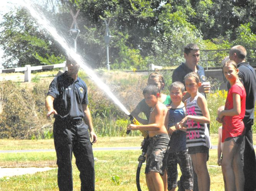
[[[59,190],[72,191],[72,154],[80,172],[81,190],[95,190],[92,143],[97,141],[88,108],[88,92],[78,77],[79,65],[67,59],[68,71],[53,79],[45,100],[47,116],[54,114],[54,145]],[[92,143],[90,141],[90,136]]]

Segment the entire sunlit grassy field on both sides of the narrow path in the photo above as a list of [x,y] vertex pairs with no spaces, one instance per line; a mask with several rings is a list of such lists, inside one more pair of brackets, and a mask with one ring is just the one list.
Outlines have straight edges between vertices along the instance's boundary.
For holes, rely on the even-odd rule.
[[[254,138],[256,135],[254,135]],[[213,145],[217,135],[211,135]],[[139,146],[142,137],[99,138],[94,147]],[[46,140],[0,140],[0,150],[12,149],[53,149],[53,139]],[[94,151],[96,190],[137,190],[135,173],[137,158],[141,151]],[[224,190],[221,168],[217,166],[217,150],[210,150],[208,170],[211,177],[211,190]],[[0,153],[0,167],[56,167],[55,152]],[[143,169],[143,167],[142,167]],[[147,190],[142,170],[140,183]],[[79,172],[73,160],[74,190],[80,189]],[[0,178],[0,190],[58,190],[57,168],[33,175]]]

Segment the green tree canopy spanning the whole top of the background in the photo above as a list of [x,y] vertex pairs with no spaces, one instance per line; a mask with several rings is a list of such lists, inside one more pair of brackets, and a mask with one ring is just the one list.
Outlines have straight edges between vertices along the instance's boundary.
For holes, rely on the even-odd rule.
[[[49,0],[40,6],[61,33],[73,21],[70,10],[80,10],[77,50],[94,68],[106,66],[104,18],[111,18],[111,68],[179,65],[184,46],[191,42],[201,50],[229,49],[237,44],[256,48],[255,0]],[[64,60],[58,42],[38,28],[24,8],[7,13],[0,28],[6,68]],[[73,46],[68,33],[64,36]],[[255,51],[248,55],[255,56]]]

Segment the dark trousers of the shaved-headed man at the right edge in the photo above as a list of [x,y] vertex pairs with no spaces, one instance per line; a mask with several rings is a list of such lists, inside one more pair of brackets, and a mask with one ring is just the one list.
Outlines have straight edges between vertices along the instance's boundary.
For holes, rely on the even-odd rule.
[[256,159],[253,148],[253,119],[244,118],[244,140],[241,145],[241,157],[244,165],[244,191],[256,191]]

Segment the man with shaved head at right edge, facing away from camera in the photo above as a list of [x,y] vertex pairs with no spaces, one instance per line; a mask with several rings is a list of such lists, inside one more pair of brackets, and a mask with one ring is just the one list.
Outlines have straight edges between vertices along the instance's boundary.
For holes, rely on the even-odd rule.
[[[243,119],[245,126],[244,141],[241,147],[244,163],[244,191],[256,190],[256,159],[253,148],[253,133],[251,126],[253,125],[254,106],[256,100],[256,74],[253,67],[246,62],[246,49],[237,45],[230,49],[230,60],[234,60],[239,69],[238,75],[241,83],[246,91],[245,116]],[[230,84],[228,83],[228,89]]]

